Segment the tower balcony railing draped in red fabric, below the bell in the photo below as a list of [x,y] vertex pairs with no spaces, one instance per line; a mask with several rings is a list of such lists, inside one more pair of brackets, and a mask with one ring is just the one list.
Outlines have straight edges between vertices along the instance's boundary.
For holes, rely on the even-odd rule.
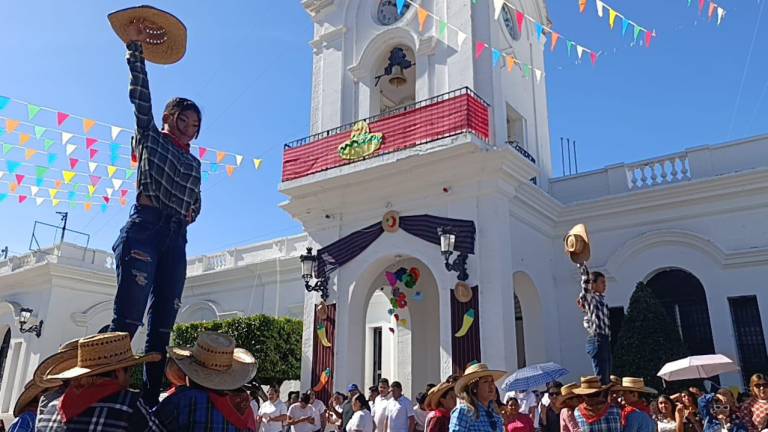
[[[283,181],[462,133],[472,133],[487,142],[489,111],[487,102],[464,87],[291,141],[284,145]],[[361,122],[368,125],[371,134],[381,134],[380,147],[359,158],[341,157],[340,146],[350,140]]]

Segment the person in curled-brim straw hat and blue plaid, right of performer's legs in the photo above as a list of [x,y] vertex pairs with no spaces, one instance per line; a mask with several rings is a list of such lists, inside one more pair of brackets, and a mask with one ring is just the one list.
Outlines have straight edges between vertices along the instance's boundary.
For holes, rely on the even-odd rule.
[[169,431],[245,432],[256,430],[248,393],[256,359],[235,340],[203,332],[191,347],[169,347],[168,355],[187,376],[187,385],[163,399],[155,410]]

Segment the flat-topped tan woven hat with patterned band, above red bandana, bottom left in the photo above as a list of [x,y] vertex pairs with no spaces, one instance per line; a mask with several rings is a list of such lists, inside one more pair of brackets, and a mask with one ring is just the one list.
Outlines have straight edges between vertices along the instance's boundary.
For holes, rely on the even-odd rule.
[[48,373],[44,380],[70,380],[111,372],[160,360],[160,353],[135,355],[128,333],[101,333],[80,339],[77,344],[77,363],[57,373]]

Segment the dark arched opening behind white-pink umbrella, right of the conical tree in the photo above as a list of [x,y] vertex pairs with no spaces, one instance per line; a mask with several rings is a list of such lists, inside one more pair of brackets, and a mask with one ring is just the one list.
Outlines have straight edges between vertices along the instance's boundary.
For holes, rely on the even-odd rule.
[[691,355],[713,354],[715,343],[707,295],[701,281],[686,270],[668,269],[654,274],[646,285],[677,326],[688,352]]

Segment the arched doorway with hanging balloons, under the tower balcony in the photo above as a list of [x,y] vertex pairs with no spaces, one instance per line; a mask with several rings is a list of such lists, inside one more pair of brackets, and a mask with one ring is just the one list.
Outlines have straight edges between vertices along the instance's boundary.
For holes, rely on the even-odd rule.
[[[417,281],[407,282],[413,274]],[[404,302],[394,307],[393,298]],[[365,314],[366,387],[388,378],[410,397],[440,382],[438,300],[435,278],[418,259],[400,259],[375,278]]]

